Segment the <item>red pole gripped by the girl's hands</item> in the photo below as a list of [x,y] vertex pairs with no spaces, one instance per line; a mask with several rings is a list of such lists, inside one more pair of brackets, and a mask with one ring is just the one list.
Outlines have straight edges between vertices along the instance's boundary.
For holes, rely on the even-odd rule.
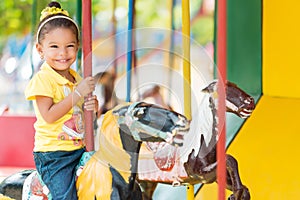
[[[84,77],[92,75],[92,15],[91,0],[82,0],[82,49]],[[91,95],[91,94],[90,94]],[[94,150],[93,111],[84,110],[87,151]]]

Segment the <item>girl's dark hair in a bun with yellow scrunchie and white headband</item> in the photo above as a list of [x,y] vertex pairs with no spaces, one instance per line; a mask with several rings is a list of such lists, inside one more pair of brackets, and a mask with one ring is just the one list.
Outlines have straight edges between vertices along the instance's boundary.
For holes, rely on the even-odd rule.
[[37,43],[40,43],[45,38],[45,34],[59,27],[71,29],[76,35],[77,42],[79,42],[78,25],[69,17],[69,13],[61,8],[58,2],[52,1],[41,12],[40,23],[36,33]]

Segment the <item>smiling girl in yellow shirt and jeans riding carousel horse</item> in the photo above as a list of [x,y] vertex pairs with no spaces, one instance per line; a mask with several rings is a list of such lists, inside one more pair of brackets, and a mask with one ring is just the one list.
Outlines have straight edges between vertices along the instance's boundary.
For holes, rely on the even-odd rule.
[[71,65],[79,48],[77,24],[51,2],[41,13],[36,49],[45,60],[25,90],[33,100],[34,161],[53,199],[77,199],[75,166],[85,151],[83,108],[98,110],[92,77],[82,78]]

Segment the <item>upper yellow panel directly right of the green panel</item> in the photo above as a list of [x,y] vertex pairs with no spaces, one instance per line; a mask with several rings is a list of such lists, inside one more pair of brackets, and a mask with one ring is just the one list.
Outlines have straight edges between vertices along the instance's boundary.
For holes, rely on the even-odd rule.
[[299,0],[263,1],[263,93],[266,95],[300,97],[299,8]]

